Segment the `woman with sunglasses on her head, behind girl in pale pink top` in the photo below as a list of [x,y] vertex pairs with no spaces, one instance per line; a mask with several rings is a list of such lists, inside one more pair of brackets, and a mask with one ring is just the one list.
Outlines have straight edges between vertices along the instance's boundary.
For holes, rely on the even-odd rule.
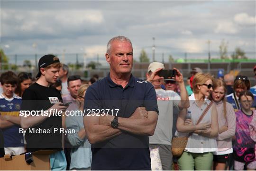
[[[227,102],[232,104],[235,111],[238,111],[241,109],[240,103],[238,101],[238,97],[241,92],[245,92],[247,90],[250,90],[250,81],[246,76],[237,76],[234,82],[234,93],[229,94],[226,96]],[[253,108],[256,108],[256,94],[254,95],[254,103],[252,104]]]

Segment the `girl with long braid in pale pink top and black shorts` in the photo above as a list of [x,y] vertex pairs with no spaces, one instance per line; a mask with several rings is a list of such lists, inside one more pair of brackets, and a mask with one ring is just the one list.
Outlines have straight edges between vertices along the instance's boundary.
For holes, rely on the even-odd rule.
[[233,153],[232,137],[236,132],[236,115],[232,105],[225,99],[226,84],[215,79],[212,88],[209,99],[216,105],[219,123],[219,134],[216,137],[218,150],[213,152],[213,166],[215,171],[224,171],[229,155]]

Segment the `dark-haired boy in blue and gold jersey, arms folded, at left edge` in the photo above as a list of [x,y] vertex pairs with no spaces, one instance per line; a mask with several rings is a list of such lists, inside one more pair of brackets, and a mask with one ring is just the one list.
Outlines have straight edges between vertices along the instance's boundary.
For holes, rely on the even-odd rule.
[[14,94],[18,77],[12,71],[1,74],[3,93],[0,94],[0,128],[4,137],[5,154],[18,155],[25,152],[23,135],[19,133],[19,110],[21,98]]

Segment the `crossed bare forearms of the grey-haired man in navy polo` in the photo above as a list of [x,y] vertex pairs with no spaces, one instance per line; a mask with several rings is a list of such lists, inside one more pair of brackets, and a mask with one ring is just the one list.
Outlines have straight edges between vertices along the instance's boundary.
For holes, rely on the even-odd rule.
[[84,116],[83,124],[91,144],[106,141],[127,131],[136,135],[152,136],[158,119],[156,111],[138,107],[129,118],[118,118],[118,128],[111,127],[114,116]]

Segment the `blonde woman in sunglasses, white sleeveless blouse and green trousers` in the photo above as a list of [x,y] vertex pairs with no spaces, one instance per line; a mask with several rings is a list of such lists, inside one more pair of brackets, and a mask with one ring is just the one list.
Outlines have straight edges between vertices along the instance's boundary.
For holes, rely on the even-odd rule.
[[[196,74],[192,81],[194,94],[189,97],[190,107],[179,113],[176,136],[189,136],[178,159],[179,170],[211,170],[219,131],[216,105],[207,99],[212,92],[212,80],[210,74]],[[198,120],[201,121],[197,123]]]

